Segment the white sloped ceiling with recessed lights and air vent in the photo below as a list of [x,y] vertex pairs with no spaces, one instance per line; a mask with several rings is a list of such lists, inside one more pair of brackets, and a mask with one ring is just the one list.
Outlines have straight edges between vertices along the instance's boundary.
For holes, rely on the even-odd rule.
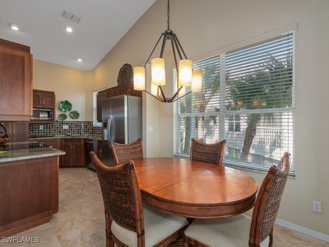
[[[0,38],[30,46],[34,59],[90,70],[154,2],[0,0]],[[12,30],[10,23],[20,30]]]

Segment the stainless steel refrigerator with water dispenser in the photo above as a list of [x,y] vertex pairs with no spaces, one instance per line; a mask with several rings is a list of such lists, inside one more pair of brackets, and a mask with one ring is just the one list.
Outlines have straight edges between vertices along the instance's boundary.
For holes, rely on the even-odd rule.
[[142,137],[142,98],[120,95],[102,100],[102,162],[115,166],[109,140],[127,144]]

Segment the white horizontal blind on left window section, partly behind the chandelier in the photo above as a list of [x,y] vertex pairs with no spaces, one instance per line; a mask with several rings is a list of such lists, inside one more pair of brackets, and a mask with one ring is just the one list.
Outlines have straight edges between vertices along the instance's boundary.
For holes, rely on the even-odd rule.
[[[203,70],[203,91],[188,94],[175,104],[174,150],[176,154],[189,155],[190,139],[207,139],[216,142],[218,111],[220,107],[220,56],[195,62],[193,69]],[[174,73],[174,76],[176,74]],[[185,88],[186,93],[190,87]]]

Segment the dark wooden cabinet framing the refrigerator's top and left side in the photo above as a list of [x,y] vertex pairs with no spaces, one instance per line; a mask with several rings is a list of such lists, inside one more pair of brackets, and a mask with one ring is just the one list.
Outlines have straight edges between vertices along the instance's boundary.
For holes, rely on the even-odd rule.
[[97,94],[97,121],[102,122],[102,100],[118,95],[131,95],[142,97],[143,91],[134,90],[134,82],[114,86],[109,89],[99,91]]

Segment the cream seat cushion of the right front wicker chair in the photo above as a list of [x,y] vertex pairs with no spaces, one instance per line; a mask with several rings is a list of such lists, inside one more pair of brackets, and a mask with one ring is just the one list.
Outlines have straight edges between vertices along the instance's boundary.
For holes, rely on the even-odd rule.
[[[251,218],[236,215],[219,219],[197,219],[186,230],[185,235],[210,247],[248,246]],[[268,246],[269,236],[261,242]]]

